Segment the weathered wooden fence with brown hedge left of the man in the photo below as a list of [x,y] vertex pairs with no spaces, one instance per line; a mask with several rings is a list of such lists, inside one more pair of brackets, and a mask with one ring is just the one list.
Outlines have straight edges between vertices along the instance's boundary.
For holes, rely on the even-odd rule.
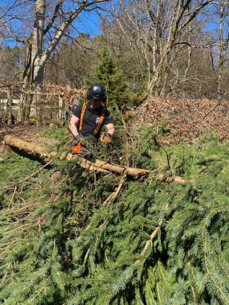
[[[20,111],[27,113],[30,121],[42,123],[60,123],[67,119],[70,109],[77,100],[84,96],[85,90],[53,85],[46,92],[35,90],[23,91],[13,85],[0,86],[0,125],[12,125],[18,119]],[[23,98],[21,98],[23,97]]]

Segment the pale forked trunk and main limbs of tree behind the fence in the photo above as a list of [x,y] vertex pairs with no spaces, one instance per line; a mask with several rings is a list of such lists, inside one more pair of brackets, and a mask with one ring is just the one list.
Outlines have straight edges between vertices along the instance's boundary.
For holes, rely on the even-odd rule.
[[[59,44],[61,38],[66,32],[66,29],[69,25],[75,20],[75,18],[88,7],[93,7],[95,4],[108,2],[110,0],[93,0],[88,1],[85,0],[82,3],[79,3],[78,7],[72,11],[65,12],[61,11],[62,5],[64,4],[64,0],[59,0],[53,12],[52,17],[50,18],[49,22],[47,23],[46,28],[44,28],[45,20],[47,19],[47,12],[46,12],[46,0],[36,0],[36,8],[35,8],[35,21],[34,21],[34,28],[31,34],[31,37],[27,39],[27,54],[25,60],[25,68],[23,74],[23,90],[30,90],[30,89],[42,89],[43,85],[43,75],[44,75],[44,68],[47,60],[49,59],[52,51],[55,47]],[[97,7],[94,7],[98,9]],[[93,8],[91,8],[93,9]],[[53,23],[56,17],[67,16],[65,20],[59,25],[59,29],[56,31],[55,34],[52,35],[52,39],[45,49],[43,41],[44,37],[47,33],[49,33],[50,29],[53,26]],[[11,31],[10,31],[11,32]],[[28,97],[27,94],[22,94],[20,98],[20,111],[18,115],[18,120],[22,121],[24,118],[28,118],[30,114],[30,104],[33,101],[33,97]],[[26,102],[26,107],[23,107],[23,104]],[[27,109],[25,111],[25,109]]]

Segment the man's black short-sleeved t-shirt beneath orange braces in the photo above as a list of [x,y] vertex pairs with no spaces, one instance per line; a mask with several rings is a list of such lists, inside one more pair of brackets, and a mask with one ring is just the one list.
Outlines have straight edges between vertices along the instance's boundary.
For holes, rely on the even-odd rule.
[[[82,106],[83,106],[83,104],[79,104],[73,110],[73,115],[80,118],[80,114],[81,114],[81,111],[82,111]],[[102,106],[100,108],[90,108],[89,106],[87,106],[87,108],[84,112],[84,115],[83,115],[82,130],[81,131],[78,130],[78,132],[80,132],[85,137],[93,135],[94,130],[96,129],[96,127],[99,123],[100,116],[102,114],[102,109],[103,109]],[[109,115],[110,115],[110,113],[106,109],[104,119],[103,119],[103,123],[102,123],[97,135],[95,135],[96,138],[100,137],[101,129],[104,125],[113,123],[113,119]]]

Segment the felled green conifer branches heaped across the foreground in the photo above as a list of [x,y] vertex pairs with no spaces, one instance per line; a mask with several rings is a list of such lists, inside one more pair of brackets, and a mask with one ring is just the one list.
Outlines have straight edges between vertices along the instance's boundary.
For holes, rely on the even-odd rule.
[[[3,304],[229,302],[228,143],[206,135],[196,144],[162,149],[155,134],[165,130],[150,130],[132,137],[144,161],[128,153],[155,174],[124,176],[121,192],[106,204],[122,177],[97,173],[95,179],[95,173],[85,175],[75,162],[63,160],[1,191]],[[24,166],[30,172],[39,163],[6,156],[0,170],[8,168],[10,178],[2,185],[10,185],[13,172]],[[63,176],[53,182],[56,169]],[[159,182],[155,175],[161,171],[193,182]]]

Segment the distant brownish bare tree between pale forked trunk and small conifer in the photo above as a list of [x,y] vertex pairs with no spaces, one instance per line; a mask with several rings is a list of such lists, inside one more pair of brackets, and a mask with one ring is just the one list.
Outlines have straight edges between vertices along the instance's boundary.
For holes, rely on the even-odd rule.
[[85,77],[94,72],[94,67],[99,62],[96,54],[102,46],[102,36],[90,37],[86,33],[80,33],[75,39],[63,40],[46,64],[45,79],[81,88]]

